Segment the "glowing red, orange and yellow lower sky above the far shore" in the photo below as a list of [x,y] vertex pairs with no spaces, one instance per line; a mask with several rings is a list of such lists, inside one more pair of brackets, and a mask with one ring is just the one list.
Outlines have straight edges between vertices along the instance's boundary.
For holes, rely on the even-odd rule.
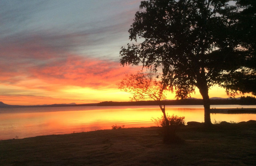
[[[9,67],[13,72],[2,72],[0,76],[0,101],[12,105],[129,101],[131,94],[121,92],[117,84],[124,73],[140,68],[76,55],[68,55],[62,61],[53,61],[43,67],[18,64]],[[169,100],[174,96],[167,93]],[[225,89],[218,86],[209,90],[209,96],[228,97]],[[202,98],[198,90],[191,97]]]

